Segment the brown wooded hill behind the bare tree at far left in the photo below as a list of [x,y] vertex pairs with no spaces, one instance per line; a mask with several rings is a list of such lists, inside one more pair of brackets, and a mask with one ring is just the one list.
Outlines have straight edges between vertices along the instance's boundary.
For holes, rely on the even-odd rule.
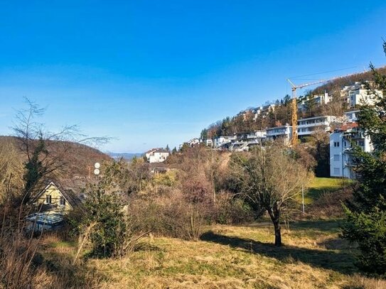
[[[19,150],[16,137],[0,136],[1,147],[10,151],[9,156],[18,157],[16,163],[21,164],[26,160],[26,155]],[[96,162],[102,163],[104,160],[112,159],[96,148],[68,141],[48,141],[47,149],[50,156],[58,158],[58,162],[63,164],[63,168],[60,168],[61,177],[63,178],[87,177],[92,175]]]

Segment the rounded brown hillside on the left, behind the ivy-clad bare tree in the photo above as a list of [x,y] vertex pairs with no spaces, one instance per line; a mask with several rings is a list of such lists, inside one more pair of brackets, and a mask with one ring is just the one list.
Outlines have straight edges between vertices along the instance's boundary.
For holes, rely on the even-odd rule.
[[[16,150],[18,150],[17,138],[14,136],[0,136],[0,146],[4,146],[6,142],[13,143]],[[92,173],[96,162],[102,163],[104,160],[111,160],[107,154],[96,148],[68,141],[50,142],[48,151],[63,151],[63,148],[66,151],[62,158],[65,163],[63,178],[86,177]],[[26,156],[21,153],[20,158],[24,160]]]

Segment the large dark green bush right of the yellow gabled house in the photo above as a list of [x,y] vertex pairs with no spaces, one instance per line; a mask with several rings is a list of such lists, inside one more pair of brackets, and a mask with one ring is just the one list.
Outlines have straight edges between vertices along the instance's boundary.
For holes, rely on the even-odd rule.
[[103,182],[93,187],[87,195],[84,208],[68,216],[68,225],[73,236],[78,237],[78,250],[89,245],[90,256],[120,257],[131,252],[134,244],[144,232],[136,231],[133,219],[122,209],[116,193],[105,192]]

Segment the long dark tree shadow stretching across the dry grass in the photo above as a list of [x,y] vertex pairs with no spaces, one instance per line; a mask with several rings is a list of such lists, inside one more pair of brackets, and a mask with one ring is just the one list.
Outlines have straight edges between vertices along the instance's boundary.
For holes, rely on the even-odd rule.
[[334,251],[312,250],[296,246],[276,247],[274,244],[265,244],[252,239],[242,239],[234,236],[225,236],[208,231],[200,238],[202,241],[210,241],[217,244],[244,249],[250,253],[276,258],[285,263],[300,261],[311,266],[331,269],[344,274],[355,273],[353,256],[348,253],[336,253]]

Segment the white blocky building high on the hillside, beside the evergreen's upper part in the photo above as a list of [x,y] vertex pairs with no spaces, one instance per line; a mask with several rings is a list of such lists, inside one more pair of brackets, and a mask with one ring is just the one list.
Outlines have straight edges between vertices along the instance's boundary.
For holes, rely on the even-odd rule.
[[[375,89],[375,93],[382,97],[382,91]],[[353,85],[343,87],[341,97],[344,97],[348,107],[352,108],[363,104],[374,104],[375,95],[369,93],[362,82],[355,82]]]

